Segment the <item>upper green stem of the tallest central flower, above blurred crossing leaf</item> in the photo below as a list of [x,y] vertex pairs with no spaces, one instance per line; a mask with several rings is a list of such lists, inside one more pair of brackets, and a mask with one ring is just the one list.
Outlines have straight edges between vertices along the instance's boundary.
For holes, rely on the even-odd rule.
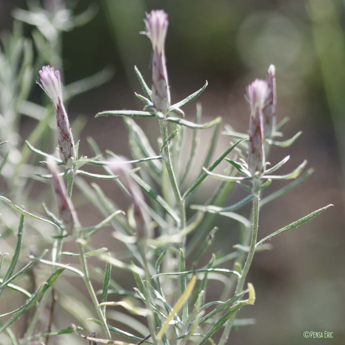
[[[162,137],[162,141],[165,142],[168,138],[168,126],[167,122],[165,119],[159,119],[158,120],[159,124],[159,129],[160,129],[160,135]],[[175,199],[176,199],[176,204],[177,208],[179,210],[180,214],[180,229],[184,229],[186,226],[186,209],[185,209],[185,203],[184,200],[181,196],[180,190],[177,185],[174,169],[172,168],[172,163],[171,163],[171,157],[170,157],[170,150],[169,150],[169,145],[165,145],[164,149],[164,161],[166,168],[168,170],[168,175],[172,187],[172,191],[174,192]]]

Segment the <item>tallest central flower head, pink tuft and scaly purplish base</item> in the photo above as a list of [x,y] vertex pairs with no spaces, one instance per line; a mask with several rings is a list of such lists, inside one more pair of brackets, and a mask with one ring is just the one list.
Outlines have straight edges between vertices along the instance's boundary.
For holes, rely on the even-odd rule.
[[157,111],[166,114],[170,107],[170,90],[165,61],[165,38],[168,30],[168,14],[153,10],[144,20],[152,43],[152,103]]

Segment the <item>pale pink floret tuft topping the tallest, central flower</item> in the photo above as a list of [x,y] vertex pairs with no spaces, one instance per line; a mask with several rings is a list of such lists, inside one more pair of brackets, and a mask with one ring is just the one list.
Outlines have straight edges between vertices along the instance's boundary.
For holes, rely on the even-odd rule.
[[168,31],[168,14],[163,10],[152,10],[146,14],[144,21],[153,50],[157,49],[158,53],[162,53]]

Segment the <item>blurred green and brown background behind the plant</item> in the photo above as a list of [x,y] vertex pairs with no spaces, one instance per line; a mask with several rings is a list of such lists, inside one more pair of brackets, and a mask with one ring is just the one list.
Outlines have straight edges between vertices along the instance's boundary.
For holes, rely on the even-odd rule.
[[[150,80],[150,42],[139,31],[144,29],[145,12],[151,9],[164,9],[169,14],[166,55],[172,101],[184,98],[207,80],[209,86],[198,99],[205,121],[221,115],[223,124],[246,132],[249,111],[245,87],[255,78],[265,78],[270,63],[275,64],[278,121],[290,118],[286,138],[299,130],[303,135],[290,148],[272,149],[268,160],[275,164],[289,154],[290,161],[283,168],[289,172],[307,158],[308,166],[316,171],[298,189],[263,209],[259,238],[314,209],[329,203],[335,206],[310,223],[278,236],[272,240],[272,251],[255,256],[248,280],[256,288],[257,300],[254,307],[241,311],[241,316],[257,321],[231,333],[229,344],[343,344],[345,1],[83,0],[75,12],[85,10],[90,3],[99,5],[96,17],[86,26],[63,34],[66,83],[107,65],[115,70],[111,81],[76,97],[68,107],[71,119],[79,115],[87,119],[81,147],[89,155],[88,136],[96,139],[102,150],[129,155],[123,121],[95,119],[94,115],[109,109],[141,110],[134,95],[140,85],[133,67],[137,65]],[[25,1],[0,1],[1,30],[11,29],[10,13],[16,7],[26,8]],[[31,28],[26,26],[25,30],[29,36]],[[41,97],[37,86],[31,98]],[[185,112],[193,119],[195,103]],[[138,122],[157,148],[154,120]],[[23,140],[33,126],[30,119],[22,121]],[[190,137],[191,132],[188,134]],[[210,132],[202,132],[200,162],[209,136]],[[220,137],[216,154],[228,145],[228,138]],[[208,198],[215,183],[208,179],[196,193],[198,204]],[[283,184],[270,186],[265,194]],[[114,199],[121,197],[118,191],[112,192]],[[236,194],[232,197],[237,198]],[[96,215],[88,210],[85,217]],[[234,225],[223,218],[216,222],[220,230],[207,260],[212,252],[228,253],[237,243]],[[113,275],[128,279],[131,286],[132,277],[116,270]],[[208,291],[214,299],[219,296],[218,284]],[[304,331],[329,331],[333,338],[305,339]]]

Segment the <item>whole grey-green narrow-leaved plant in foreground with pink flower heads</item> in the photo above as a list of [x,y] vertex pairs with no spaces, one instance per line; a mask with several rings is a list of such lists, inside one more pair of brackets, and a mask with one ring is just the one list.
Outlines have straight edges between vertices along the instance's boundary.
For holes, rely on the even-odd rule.
[[[1,320],[4,320],[0,325],[0,334],[6,332],[12,344],[18,344],[18,341],[10,327],[21,315],[35,308],[21,344],[28,344],[43,337],[46,338],[47,344],[50,337],[74,332],[90,342],[118,344],[112,340],[112,335],[116,334],[138,344],[145,342],[155,345],[174,342],[184,345],[188,341],[198,345],[207,341],[214,344],[214,339],[220,333],[218,344],[224,345],[232,328],[253,323],[251,319],[239,318],[239,311],[255,302],[254,286],[246,281],[255,252],[268,249],[266,242],[269,239],[296,228],[331,206],[322,207],[258,241],[260,209],[296,187],[312,172],[308,170],[300,175],[306,165],[304,161],[290,174],[274,175],[273,172],[282,167],[289,156],[269,167],[270,147],[288,147],[300,135],[298,133],[284,141],[276,140],[281,136],[280,130],[286,121],[276,123],[275,67],[269,66],[266,80],[256,79],[247,87],[250,108],[249,135],[227,127],[223,134],[231,138],[231,144],[223,154],[212,161],[221,118],[200,124],[201,106],[198,103],[196,119],[191,122],[185,119],[182,109],[206,89],[207,82],[200,90],[171,105],[165,58],[168,15],[161,10],[151,11],[146,16],[145,26],[152,45],[151,88],[135,67],[135,73],[145,93],[145,96],[136,94],[144,103],[143,110],[111,110],[96,115],[125,118],[132,160],[119,157],[109,150],[109,157],[102,160],[102,154],[93,140],[89,140],[89,145],[95,156],[88,158],[80,155],[79,141],[75,143],[73,140],[63,104],[60,73],[50,66],[42,67],[39,72],[38,83],[53,103],[59,158],[34,148],[29,141],[26,144],[29,150],[45,159],[41,163],[48,167],[48,174],[45,171],[44,174],[38,173],[36,176],[41,180],[51,180],[59,216],[44,205],[46,217],[43,218],[17,206],[7,197],[0,197],[21,215],[17,245],[8,267],[2,271],[5,273],[0,285],[0,294],[4,288],[12,288],[27,296],[22,306],[0,315]],[[135,122],[134,118],[138,117],[157,122],[160,130],[158,154]],[[194,182],[185,188],[186,176],[196,155],[199,130],[208,128],[213,128],[211,145]],[[185,151],[184,136],[189,129],[193,131],[192,147],[187,165],[182,166],[179,161]],[[223,161],[229,163],[225,173],[214,172]],[[88,165],[101,167],[105,173],[95,174],[84,170],[84,166]],[[126,212],[118,209],[115,201],[109,198],[100,186],[92,183],[90,187],[83,179],[84,176],[109,180],[108,183],[115,182],[131,200],[131,206]],[[66,178],[66,187],[63,177]],[[207,177],[220,180],[221,183],[205,205],[191,205],[190,196]],[[264,198],[261,197],[263,190],[272,182],[288,179],[294,181]],[[238,185],[244,188],[248,195],[225,206],[230,191]],[[73,186],[102,214],[104,220],[99,224],[87,227],[81,225],[73,206]],[[248,203],[253,205],[248,217],[235,212]],[[187,209],[195,210],[195,213],[187,217]],[[202,265],[200,258],[216,236],[217,228],[213,226],[216,215],[236,221],[244,236],[241,243],[234,245],[234,251],[221,257],[212,255],[209,262]],[[50,260],[45,257],[45,248],[40,255],[29,255],[29,264],[14,273],[21,250],[24,217],[49,224],[57,232],[53,236]],[[108,251],[105,247],[95,249],[91,246],[92,236],[107,225],[114,229],[112,235],[127,247],[131,263],[117,257],[117,253],[105,254]],[[76,244],[77,253],[63,251],[65,242],[70,240]],[[197,246],[199,248],[196,250]],[[106,263],[105,272],[100,272],[88,263],[87,258],[90,256],[96,256]],[[80,267],[76,263],[66,262],[66,257],[78,257]],[[3,260],[4,255],[0,260],[0,268]],[[234,260],[233,269],[221,267],[230,260]],[[38,262],[51,266],[51,272],[34,293],[31,294],[12,283]],[[120,282],[112,279],[112,266],[125,269],[134,276],[137,286],[133,291],[125,290]],[[88,318],[91,323],[75,318],[84,328],[90,330],[101,326],[102,335],[99,337],[94,333],[85,335],[81,332],[82,327],[74,324],[65,324],[61,329],[55,328],[55,304],[59,303],[56,296],[62,297],[67,293],[67,289],[56,286],[64,279],[66,272],[83,279],[94,308],[89,317],[97,315],[97,318]],[[177,284],[174,279],[178,279]],[[206,298],[206,290],[212,279],[221,279],[225,283],[220,300],[208,301]],[[102,283],[102,288],[95,290],[93,285],[99,282]],[[115,302],[109,301],[110,294],[115,296]],[[47,306],[49,299],[51,304]],[[135,320],[137,326],[134,327],[134,333],[115,328],[109,323],[111,306],[121,306],[129,313],[145,317],[147,323]],[[49,311],[48,329],[35,334],[37,323],[46,308]],[[129,319],[127,314],[116,315]],[[7,316],[10,317],[5,319]]]

